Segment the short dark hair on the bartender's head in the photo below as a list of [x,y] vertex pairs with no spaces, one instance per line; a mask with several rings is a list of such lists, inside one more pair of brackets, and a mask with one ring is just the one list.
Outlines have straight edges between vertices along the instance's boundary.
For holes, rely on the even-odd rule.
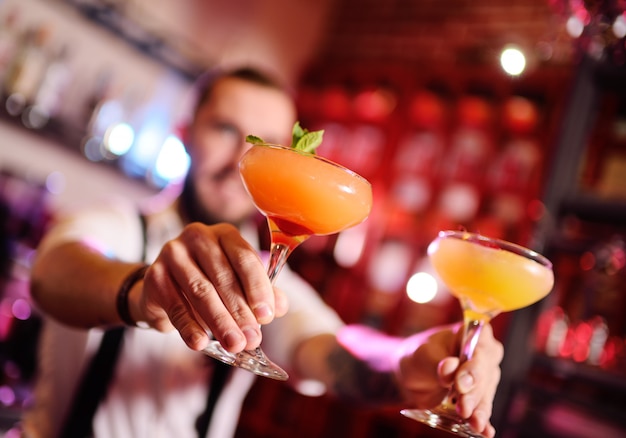
[[195,115],[198,109],[211,97],[215,84],[225,78],[241,79],[253,84],[284,91],[293,96],[292,90],[290,90],[286,84],[273,75],[257,68],[239,67],[231,70],[215,69],[204,73],[196,80],[194,84],[195,104],[193,105],[192,114]]

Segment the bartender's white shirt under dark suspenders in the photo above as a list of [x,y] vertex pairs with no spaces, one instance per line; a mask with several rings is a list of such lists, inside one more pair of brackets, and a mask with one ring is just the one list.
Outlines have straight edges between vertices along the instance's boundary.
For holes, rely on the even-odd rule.
[[[182,223],[172,207],[148,218],[146,260],[156,258],[162,245],[176,237]],[[245,234],[245,233],[244,233]],[[74,212],[59,221],[40,251],[66,241],[89,241],[121,260],[138,261],[143,250],[137,207],[117,200]],[[248,237],[246,235],[246,237]],[[248,239],[256,244],[253,238]],[[289,358],[298,342],[310,336],[335,333],[337,314],[315,290],[287,268],[278,285],[289,299],[289,312],[263,326],[262,347],[273,361],[289,371]],[[88,359],[102,338],[102,330],[77,330],[44,319],[34,404],[24,415],[29,438],[54,437]],[[195,421],[204,410],[211,360],[189,349],[177,331],[129,328],[107,398],[94,419],[96,438],[196,438]],[[207,438],[234,435],[243,400],[254,375],[235,369],[215,407]]]

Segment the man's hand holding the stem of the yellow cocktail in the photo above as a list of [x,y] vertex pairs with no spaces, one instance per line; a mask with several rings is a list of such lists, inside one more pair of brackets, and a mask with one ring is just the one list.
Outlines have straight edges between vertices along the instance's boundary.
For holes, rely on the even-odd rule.
[[430,330],[407,338],[401,349],[397,372],[400,387],[415,407],[433,408],[449,388],[457,392],[457,412],[472,428],[493,437],[489,422],[493,398],[500,381],[502,344],[489,324],[481,331],[472,359],[459,366],[461,326]]

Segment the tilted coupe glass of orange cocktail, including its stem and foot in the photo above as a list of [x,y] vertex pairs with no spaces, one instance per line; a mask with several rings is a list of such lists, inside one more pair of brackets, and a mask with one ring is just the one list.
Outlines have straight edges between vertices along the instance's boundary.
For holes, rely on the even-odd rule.
[[[284,146],[256,144],[241,158],[239,171],[270,229],[270,281],[291,252],[312,235],[334,234],[364,221],[372,207],[370,183],[318,155]],[[260,347],[230,353],[212,341],[204,352],[230,365],[277,380],[287,373]]]

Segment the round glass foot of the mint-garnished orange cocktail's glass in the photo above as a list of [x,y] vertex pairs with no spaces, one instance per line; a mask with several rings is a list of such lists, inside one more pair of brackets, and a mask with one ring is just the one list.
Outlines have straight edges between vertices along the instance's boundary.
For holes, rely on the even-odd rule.
[[254,350],[231,353],[225,350],[219,342],[211,341],[202,352],[228,365],[243,368],[259,376],[269,377],[274,380],[287,380],[289,378],[285,370],[265,356],[261,347],[257,347]]

